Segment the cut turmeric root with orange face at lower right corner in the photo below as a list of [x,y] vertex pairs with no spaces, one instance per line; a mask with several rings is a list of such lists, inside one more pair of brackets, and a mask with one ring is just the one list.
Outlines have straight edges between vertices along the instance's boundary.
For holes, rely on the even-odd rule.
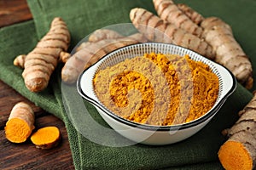
[[218,158],[227,170],[251,170],[256,167],[256,93],[239,112],[236,124],[226,130],[229,139],[218,150]]

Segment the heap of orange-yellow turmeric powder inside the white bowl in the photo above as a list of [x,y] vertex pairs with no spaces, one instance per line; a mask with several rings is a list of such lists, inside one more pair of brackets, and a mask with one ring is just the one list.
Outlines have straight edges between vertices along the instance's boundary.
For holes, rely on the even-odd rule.
[[[97,97],[113,113],[150,125],[193,121],[218,98],[218,77],[208,65],[187,55],[151,53],[125,59],[98,71],[93,84]],[[129,92],[134,89],[140,94]]]

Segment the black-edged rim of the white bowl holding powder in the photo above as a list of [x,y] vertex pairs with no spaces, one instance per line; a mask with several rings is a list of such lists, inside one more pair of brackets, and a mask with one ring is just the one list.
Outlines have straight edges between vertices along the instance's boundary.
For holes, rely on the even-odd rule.
[[[144,44],[144,43],[160,43],[160,44],[166,44],[166,45],[172,45],[172,46],[177,46],[179,48],[183,48],[181,46],[175,45],[175,44],[170,44],[170,43],[165,43],[165,42],[141,42],[141,43],[136,43],[136,44],[131,44],[131,45],[127,45],[125,47],[122,48],[127,48],[127,47],[131,47],[131,46],[137,46],[138,44]],[[103,111],[105,114],[107,114],[108,116],[112,117],[115,121],[120,122],[120,123],[124,123],[125,125],[131,126],[131,127],[138,127],[144,130],[149,130],[149,131],[176,131],[178,129],[187,129],[189,127],[195,127],[199,124],[201,124],[202,122],[207,121],[207,119],[209,119],[211,116],[214,116],[217,111],[221,108],[222,105],[224,105],[224,102],[226,99],[228,99],[228,97],[233,94],[233,92],[236,90],[236,86],[237,86],[237,82],[236,82],[236,77],[233,75],[233,73],[227,69],[224,65],[219,65],[218,63],[216,63],[215,61],[212,61],[210,59],[207,59],[206,57],[202,56],[201,54],[196,53],[195,51],[189,49],[189,48],[183,48],[189,51],[192,51],[195,54],[198,54],[201,58],[207,59],[210,62],[212,62],[213,65],[218,65],[219,67],[224,68],[229,74],[230,77],[232,78],[232,86],[230,88],[230,90],[224,95],[224,97],[222,99],[220,99],[220,101],[218,102],[217,105],[215,105],[211,111],[208,111],[205,115],[191,121],[191,122],[186,122],[186,123],[182,123],[182,124],[175,124],[175,125],[169,125],[169,126],[157,126],[157,125],[149,125],[149,124],[142,124],[142,123],[138,123],[138,122],[131,122],[121,116],[118,116],[116,114],[114,114],[112,111],[108,110],[108,108],[106,108],[104,105],[100,104],[98,101],[96,101],[95,99],[90,98],[90,96],[84,94],[84,91],[81,87],[81,79],[84,75],[84,72],[90,70],[91,67],[93,67],[94,65],[102,62],[103,59],[106,58],[106,56],[108,56],[109,54],[112,54],[114,52],[116,52],[117,50],[120,50],[122,48],[117,48],[115,50],[113,50],[112,52],[105,54],[102,59],[99,59],[95,64],[90,65],[90,67],[88,67],[87,69],[85,69],[80,75],[79,78],[77,80],[77,90],[78,93],[80,94],[80,96],[82,96],[82,98],[84,98],[86,101],[88,101],[90,104],[96,106],[98,109],[100,109],[101,111]]]

